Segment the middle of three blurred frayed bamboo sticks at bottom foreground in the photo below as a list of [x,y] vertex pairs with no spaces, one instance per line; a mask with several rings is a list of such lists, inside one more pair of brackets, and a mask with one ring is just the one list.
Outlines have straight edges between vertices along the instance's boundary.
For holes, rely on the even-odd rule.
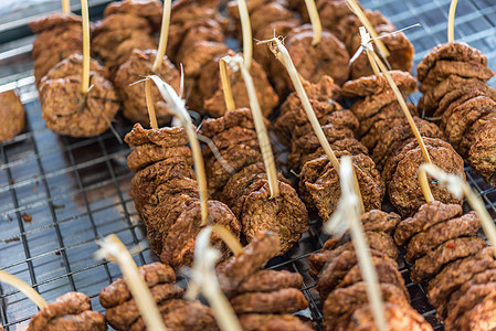
[[188,270],[192,279],[184,297],[194,300],[200,292],[203,293],[212,307],[219,328],[222,331],[241,331],[240,321],[217,279],[215,263],[221,253],[210,245],[212,229],[212,226],[208,226],[197,236],[193,266]]

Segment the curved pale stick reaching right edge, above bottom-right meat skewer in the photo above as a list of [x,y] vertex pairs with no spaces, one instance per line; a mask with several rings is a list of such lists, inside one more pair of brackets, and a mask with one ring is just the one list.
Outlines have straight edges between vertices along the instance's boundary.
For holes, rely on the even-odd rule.
[[496,225],[486,210],[486,206],[471,185],[464,181],[460,175],[446,173],[441,168],[434,164],[422,164],[419,168],[419,177],[426,178],[426,174],[439,180],[439,184],[447,188],[453,195],[462,197],[465,195],[472,209],[478,214],[482,221],[484,233],[486,234],[489,244],[496,249]]

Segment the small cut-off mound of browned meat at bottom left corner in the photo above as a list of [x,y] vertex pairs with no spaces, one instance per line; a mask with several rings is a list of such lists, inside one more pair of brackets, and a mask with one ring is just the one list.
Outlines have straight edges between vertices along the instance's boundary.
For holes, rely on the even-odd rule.
[[67,292],[31,318],[28,331],[42,330],[104,331],[107,324],[86,295]]

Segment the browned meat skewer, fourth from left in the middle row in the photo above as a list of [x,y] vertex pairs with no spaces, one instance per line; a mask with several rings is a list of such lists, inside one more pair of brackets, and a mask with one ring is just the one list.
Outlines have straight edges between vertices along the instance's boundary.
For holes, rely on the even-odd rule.
[[[415,89],[415,79],[409,73],[393,71],[391,76],[403,94]],[[350,110],[360,120],[361,142],[371,151],[371,158],[382,171],[392,204],[403,216],[413,214],[425,203],[416,179],[424,158],[386,77],[380,74],[347,82],[341,93],[346,97],[360,98]],[[413,105],[409,105],[409,109],[416,114]],[[413,116],[413,121],[432,162],[446,172],[464,175],[462,157],[441,140],[443,134],[440,128],[416,116]],[[432,191],[440,201],[462,203],[446,189],[433,185]]]

